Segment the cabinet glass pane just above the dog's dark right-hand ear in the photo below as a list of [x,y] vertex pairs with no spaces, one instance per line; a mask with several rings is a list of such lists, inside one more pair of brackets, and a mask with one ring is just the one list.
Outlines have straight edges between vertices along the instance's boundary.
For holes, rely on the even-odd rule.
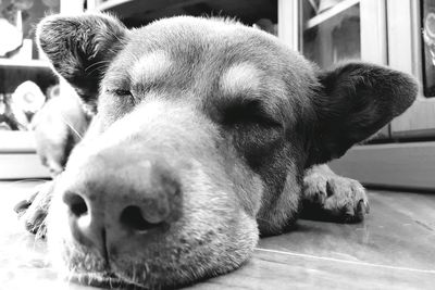
[[303,18],[307,21],[304,22],[301,51],[306,58],[315,62],[320,67],[328,67],[339,61],[361,58],[359,4],[340,11],[334,7],[322,8],[322,1],[320,1],[319,9],[315,4],[311,4],[312,1],[302,3]]

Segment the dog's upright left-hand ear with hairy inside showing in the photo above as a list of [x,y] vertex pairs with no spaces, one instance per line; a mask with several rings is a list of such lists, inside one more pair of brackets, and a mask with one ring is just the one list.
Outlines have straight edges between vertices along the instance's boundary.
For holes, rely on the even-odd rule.
[[126,31],[107,14],[52,15],[38,24],[37,41],[54,70],[92,106],[100,79],[123,47]]

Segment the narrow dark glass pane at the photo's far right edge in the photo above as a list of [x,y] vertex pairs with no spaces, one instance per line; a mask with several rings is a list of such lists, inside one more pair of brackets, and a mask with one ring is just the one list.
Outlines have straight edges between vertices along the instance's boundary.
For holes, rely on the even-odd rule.
[[423,86],[426,97],[435,97],[435,1],[422,1]]

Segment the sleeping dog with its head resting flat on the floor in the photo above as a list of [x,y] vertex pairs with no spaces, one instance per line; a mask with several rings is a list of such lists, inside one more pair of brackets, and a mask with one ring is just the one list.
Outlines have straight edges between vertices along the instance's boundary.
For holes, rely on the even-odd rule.
[[418,93],[411,76],[374,64],[321,71],[231,20],[127,29],[107,14],[53,15],[37,38],[94,116],[65,169],[17,211],[57,268],[103,287],[232,272],[304,209],[363,219],[363,187],[325,163]]

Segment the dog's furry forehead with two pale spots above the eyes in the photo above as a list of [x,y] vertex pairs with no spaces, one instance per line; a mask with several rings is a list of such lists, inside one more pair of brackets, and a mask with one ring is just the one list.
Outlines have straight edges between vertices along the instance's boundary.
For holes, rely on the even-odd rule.
[[103,83],[138,92],[265,98],[303,87],[309,71],[266,33],[225,21],[176,17],[132,30]]

